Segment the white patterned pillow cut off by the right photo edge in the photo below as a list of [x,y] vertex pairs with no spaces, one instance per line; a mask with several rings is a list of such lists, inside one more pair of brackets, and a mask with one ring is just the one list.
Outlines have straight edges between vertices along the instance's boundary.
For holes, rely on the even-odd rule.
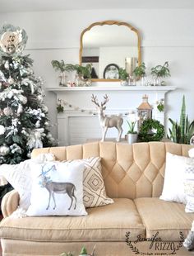
[[186,164],[184,192],[187,195],[186,212],[194,212],[194,165]]

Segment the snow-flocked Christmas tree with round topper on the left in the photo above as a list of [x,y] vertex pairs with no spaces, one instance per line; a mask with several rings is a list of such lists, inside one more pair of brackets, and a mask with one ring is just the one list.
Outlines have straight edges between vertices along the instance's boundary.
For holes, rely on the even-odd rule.
[[0,29],[0,164],[17,164],[34,148],[53,145],[42,80],[22,55],[27,35],[12,25]]

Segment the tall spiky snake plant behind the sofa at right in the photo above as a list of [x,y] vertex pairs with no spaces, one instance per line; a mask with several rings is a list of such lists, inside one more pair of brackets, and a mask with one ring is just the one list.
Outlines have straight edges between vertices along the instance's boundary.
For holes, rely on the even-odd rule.
[[186,115],[185,97],[182,97],[182,108],[180,121],[173,121],[169,118],[172,128],[169,128],[169,139],[180,144],[189,144],[192,135],[194,135],[194,121],[190,123]]

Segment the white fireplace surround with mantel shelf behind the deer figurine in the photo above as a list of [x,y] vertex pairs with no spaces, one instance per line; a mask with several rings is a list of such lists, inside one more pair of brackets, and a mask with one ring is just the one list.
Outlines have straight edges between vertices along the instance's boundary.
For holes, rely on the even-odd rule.
[[[99,102],[103,100],[104,94],[109,96],[109,102],[106,105],[105,113],[107,115],[123,115],[123,133],[127,133],[127,116],[128,111],[136,111],[140,106],[142,97],[147,94],[149,103],[153,107],[152,116],[164,124],[167,108],[164,112],[159,112],[156,102],[164,99],[165,106],[166,93],[175,90],[174,86],[91,86],[91,87],[52,87],[47,88],[48,92],[53,92],[58,99],[68,102],[64,106],[64,112],[58,114],[58,141],[59,145],[75,145],[85,143],[92,138],[101,138],[101,130],[97,115],[90,112],[96,112],[95,104],[91,102],[91,95],[97,96]],[[113,128],[109,129],[107,138],[116,138],[118,131]]]

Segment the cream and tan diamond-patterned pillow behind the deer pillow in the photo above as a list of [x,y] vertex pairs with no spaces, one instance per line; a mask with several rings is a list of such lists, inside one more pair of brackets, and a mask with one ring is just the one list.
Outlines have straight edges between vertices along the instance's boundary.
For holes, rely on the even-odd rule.
[[87,208],[105,206],[113,203],[113,199],[107,197],[104,180],[101,173],[101,158],[69,160],[67,162],[81,162],[85,165],[83,173],[83,201]]

